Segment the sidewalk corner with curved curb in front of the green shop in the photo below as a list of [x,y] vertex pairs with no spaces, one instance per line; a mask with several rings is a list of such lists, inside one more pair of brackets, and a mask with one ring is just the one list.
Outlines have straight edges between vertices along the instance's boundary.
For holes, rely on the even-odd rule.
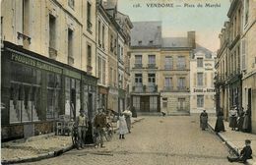
[[[132,124],[144,118],[132,118]],[[118,128],[114,128],[118,130]],[[18,139],[1,144],[1,164],[32,162],[58,156],[73,148],[71,137],[55,134]]]

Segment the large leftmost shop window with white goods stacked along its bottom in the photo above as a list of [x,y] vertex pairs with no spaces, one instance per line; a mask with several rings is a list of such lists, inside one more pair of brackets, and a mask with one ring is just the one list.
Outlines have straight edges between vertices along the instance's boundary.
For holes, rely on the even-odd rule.
[[41,116],[39,116],[41,72],[13,63],[11,73],[10,123],[41,120]]

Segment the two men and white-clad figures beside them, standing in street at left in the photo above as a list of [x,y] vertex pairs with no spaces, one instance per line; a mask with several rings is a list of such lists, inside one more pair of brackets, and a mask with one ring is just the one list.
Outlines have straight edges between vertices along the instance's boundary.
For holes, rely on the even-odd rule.
[[[126,109],[122,113],[119,114],[117,125],[119,128],[119,139],[124,139],[124,135],[131,133],[131,117],[132,112],[130,108]],[[111,121],[108,121],[111,122]],[[98,108],[96,112],[96,116],[93,119],[93,126],[95,131],[95,144],[96,147],[104,147],[103,145],[103,137],[104,137],[104,128],[107,127],[107,115],[105,113],[104,108]],[[76,118],[75,125],[78,130],[78,144],[77,148],[84,148],[86,133],[89,128],[89,121],[83,109],[80,110],[80,115]]]

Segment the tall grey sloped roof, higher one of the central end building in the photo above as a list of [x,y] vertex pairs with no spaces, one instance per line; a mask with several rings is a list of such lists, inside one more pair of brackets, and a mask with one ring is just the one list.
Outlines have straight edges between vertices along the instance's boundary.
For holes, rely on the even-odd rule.
[[[133,22],[131,46],[158,46],[161,42],[161,22]],[[141,44],[139,44],[141,41]],[[150,43],[150,41],[153,41]]]

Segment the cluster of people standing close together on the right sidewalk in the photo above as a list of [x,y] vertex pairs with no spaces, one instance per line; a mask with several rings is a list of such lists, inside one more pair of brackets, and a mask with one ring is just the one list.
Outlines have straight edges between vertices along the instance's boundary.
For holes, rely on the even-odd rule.
[[251,110],[249,106],[247,106],[246,111],[243,107],[240,111],[237,106],[232,107],[229,111],[229,127],[232,131],[251,133]]

